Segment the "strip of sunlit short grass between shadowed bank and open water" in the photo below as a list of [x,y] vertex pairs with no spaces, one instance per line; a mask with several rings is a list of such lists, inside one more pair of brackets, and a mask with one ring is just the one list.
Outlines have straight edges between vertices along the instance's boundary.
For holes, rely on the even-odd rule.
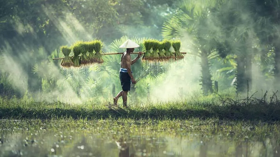
[[[92,129],[98,128],[99,132],[108,132],[108,130],[114,130],[115,132],[122,132],[125,128],[130,128],[132,130],[140,130],[141,132],[146,132],[147,134],[152,131],[168,132],[171,134],[178,134],[177,131],[181,133],[186,132],[197,132],[197,133],[207,133],[214,134],[219,133],[229,133],[234,131],[239,134],[266,134],[268,132],[279,133],[279,122],[274,122],[268,125],[261,121],[232,121],[220,119],[205,119],[201,120],[199,118],[191,118],[188,120],[155,120],[155,119],[129,119],[122,118],[114,120],[114,118],[109,117],[107,119],[72,119],[72,118],[60,118],[60,119],[22,119],[20,121],[15,119],[0,120],[0,125],[2,130],[23,130],[32,131],[39,129],[52,129],[52,130],[73,130],[75,128],[80,129]],[[133,132],[132,132],[133,133]]]

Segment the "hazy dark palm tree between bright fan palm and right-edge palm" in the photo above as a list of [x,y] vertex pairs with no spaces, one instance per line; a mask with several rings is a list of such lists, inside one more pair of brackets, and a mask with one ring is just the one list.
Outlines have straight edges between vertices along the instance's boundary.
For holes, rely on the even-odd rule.
[[252,84],[252,63],[257,45],[254,33],[255,22],[248,7],[254,0],[226,1],[223,7],[213,9],[220,27],[221,36],[216,37],[217,50],[220,57],[233,56],[236,61],[236,92],[245,92],[247,83]]

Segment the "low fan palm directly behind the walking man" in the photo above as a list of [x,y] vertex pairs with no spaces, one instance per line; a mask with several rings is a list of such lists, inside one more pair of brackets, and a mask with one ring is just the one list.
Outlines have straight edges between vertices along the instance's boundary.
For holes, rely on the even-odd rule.
[[[124,52],[124,49],[119,48],[119,46],[124,43],[128,39],[128,36],[123,36],[119,39],[115,39],[110,45],[108,46],[108,49],[111,52]],[[142,45],[143,41],[147,38],[130,38],[132,41],[138,43],[140,47],[135,48],[134,52],[143,51],[144,47]],[[132,54],[132,58],[136,57],[137,55]],[[120,68],[120,61],[121,61],[121,55],[107,55],[104,57],[104,63],[101,66],[100,76],[103,82],[106,82],[107,85],[110,87],[112,84],[116,84],[118,87],[119,83],[119,68]],[[156,68],[155,68],[156,67]],[[153,65],[147,65],[143,66],[142,61],[137,61],[131,66],[131,70],[133,71],[133,76],[136,79],[136,82],[141,81],[144,78],[152,78],[155,79],[161,74],[165,73],[167,71],[167,68],[161,64],[157,64],[156,66]],[[111,77],[109,77],[111,76]],[[138,84],[132,84],[131,86],[131,92],[135,94],[136,96],[136,88],[139,86]]]

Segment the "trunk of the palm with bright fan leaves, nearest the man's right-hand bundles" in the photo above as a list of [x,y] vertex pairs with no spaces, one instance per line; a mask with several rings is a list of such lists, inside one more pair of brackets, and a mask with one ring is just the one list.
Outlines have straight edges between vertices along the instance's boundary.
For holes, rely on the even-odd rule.
[[201,51],[201,73],[202,77],[200,79],[202,85],[202,91],[204,95],[208,95],[208,93],[213,92],[212,88],[212,80],[211,80],[211,71],[210,64],[208,60],[208,53],[205,51]]

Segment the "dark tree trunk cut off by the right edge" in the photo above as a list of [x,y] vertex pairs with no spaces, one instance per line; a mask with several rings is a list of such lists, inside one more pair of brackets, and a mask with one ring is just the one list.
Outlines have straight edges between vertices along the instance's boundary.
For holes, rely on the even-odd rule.
[[280,82],[280,45],[275,46],[274,53],[274,87],[278,89]]

